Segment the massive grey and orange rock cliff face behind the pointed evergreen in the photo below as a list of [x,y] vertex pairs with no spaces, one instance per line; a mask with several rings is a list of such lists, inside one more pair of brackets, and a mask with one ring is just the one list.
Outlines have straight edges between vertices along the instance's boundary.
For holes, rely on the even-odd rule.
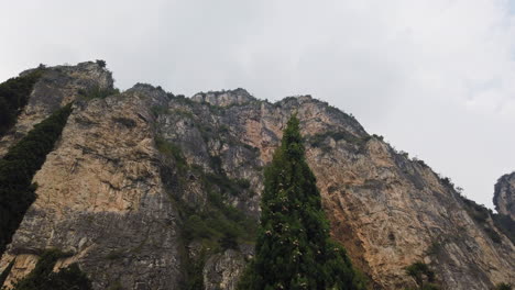
[[[63,88],[51,89],[73,98]],[[352,116],[309,96],[270,103],[237,89],[188,99],[136,85],[74,104],[61,142],[34,177],[37,200],[1,257],[0,269],[15,258],[8,283],[33,268],[41,249],[58,247],[74,254],[58,266],[77,261],[95,289],[187,289],[188,269],[202,253],[196,271],[204,288],[234,289],[252,243],[215,250],[185,239],[182,204],[207,208],[212,189],[202,179],[222,172],[227,182],[244,185],[222,202],[256,219],[262,168],[293,112],[332,236],[374,289],[413,286],[404,267],[417,260],[430,264],[446,289],[513,282],[512,242],[497,231],[494,243],[445,179]],[[21,124],[14,134],[26,132]],[[163,142],[174,146],[165,150]]]

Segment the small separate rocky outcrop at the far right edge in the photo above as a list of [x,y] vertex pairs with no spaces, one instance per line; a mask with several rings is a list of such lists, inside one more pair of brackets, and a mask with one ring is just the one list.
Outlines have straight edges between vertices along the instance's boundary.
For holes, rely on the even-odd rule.
[[493,202],[498,213],[515,220],[515,172],[504,175],[497,180]]

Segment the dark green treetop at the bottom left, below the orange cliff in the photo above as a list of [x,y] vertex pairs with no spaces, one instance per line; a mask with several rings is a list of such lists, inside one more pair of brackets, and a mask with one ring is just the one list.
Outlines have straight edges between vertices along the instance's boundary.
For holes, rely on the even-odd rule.
[[66,254],[58,249],[45,250],[35,268],[22,280],[14,283],[13,290],[89,290],[91,281],[77,264],[54,272],[54,266]]

